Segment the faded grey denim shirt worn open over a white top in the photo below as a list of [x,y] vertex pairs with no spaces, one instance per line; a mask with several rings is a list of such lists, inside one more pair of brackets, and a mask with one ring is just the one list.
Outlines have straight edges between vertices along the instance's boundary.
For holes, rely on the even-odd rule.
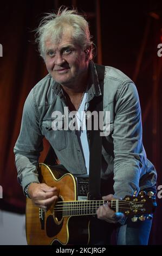
[[[101,95],[95,64],[90,61],[88,99]],[[24,104],[20,135],[14,147],[18,182],[38,182],[38,159],[45,136],[61,164],[73,174],[87,174],[75,130],[51,129],[52,113],[64,113],[60,84],[48,74],[29,93]],[[157,174],[142,145],[141,109],[134,83],[118,69],[105,67],[103,110],[110,112],[110,133],[102,141],[102,179],[114,174],[116,196],[132,195],[156,183]]]

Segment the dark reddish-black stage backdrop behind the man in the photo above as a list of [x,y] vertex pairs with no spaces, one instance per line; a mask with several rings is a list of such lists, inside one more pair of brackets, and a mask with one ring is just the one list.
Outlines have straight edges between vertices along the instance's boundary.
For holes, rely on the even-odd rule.
[[[12,1],[1,2],[0,44],[0,185],[3,199],[0,208],[24,213],[25,198],[14,163],[13,148],[18,137],[24,101],[31,88],[46,74],[46,67],[34,43],[33,30],[44,13],[56,6],[72,7],[72,1]],[[161,62],[157,45],[162,43],[161,1],[73,1],[83,14],[87,14],[90,32],[96,45],[96,11],[100,14],[100,60],[95,62],[114,66],[125,72],[136,83],[142,110],[143,142],[147,157],[158,172],[158,185],[162,185],[161,163]],[[99,51],[100,50],[100,51]],[[138,67],[138,70],[137,70]],[[137,72],[136,72],[137,71]],[[44,141],[43,161],[48,150]],[[150,245],[162,244],[161,200],[155,212]]]

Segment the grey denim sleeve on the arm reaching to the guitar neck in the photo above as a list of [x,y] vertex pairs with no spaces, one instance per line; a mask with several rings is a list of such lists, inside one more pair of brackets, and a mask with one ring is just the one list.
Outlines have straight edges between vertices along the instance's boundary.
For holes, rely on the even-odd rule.
[[125,197],[139,192],[144,149],[141,109],[133,82],[122,84],[116,96],[114,119],[114,192]]

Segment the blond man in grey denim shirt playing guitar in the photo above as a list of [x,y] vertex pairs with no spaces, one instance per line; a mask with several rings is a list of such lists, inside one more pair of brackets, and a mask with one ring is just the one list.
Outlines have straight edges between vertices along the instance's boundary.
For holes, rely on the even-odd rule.
[[[59,10],[44,18],[37,30],[37,41],[49,74],[36,84],[25,101],[14,153],[24,193],[35,205],[47,210],[57,200],[58,192],[56,187],[38,181],[42,139],[48,139],[67,170],[88,174],[88,131],[81,129],[86,122],[85,115],[79,114],[85,113],[92,100],[102,93],[92,61],[88,23],[76,10]],[[110,131],[102,140],[101,178],[109,187],[109,194],[103,199],[124,198],[144,189],[155,191],[156,172],[142,145],[140,105],[134,83],[121,71],[106,66],[102,96],[103,111],[110,113]],[[63,113],[64,107],[77,111],[79,129],[51,129],[53,113]],[[114,195],[110,188],[112,176]],[[115,214],[108,204],[100,206],[97,214],[102,221],[92,224],[91,243],[110,243],[111,232],[116,228],[119,245],[147,244],[150,220],[132,223],[123,214]]]

